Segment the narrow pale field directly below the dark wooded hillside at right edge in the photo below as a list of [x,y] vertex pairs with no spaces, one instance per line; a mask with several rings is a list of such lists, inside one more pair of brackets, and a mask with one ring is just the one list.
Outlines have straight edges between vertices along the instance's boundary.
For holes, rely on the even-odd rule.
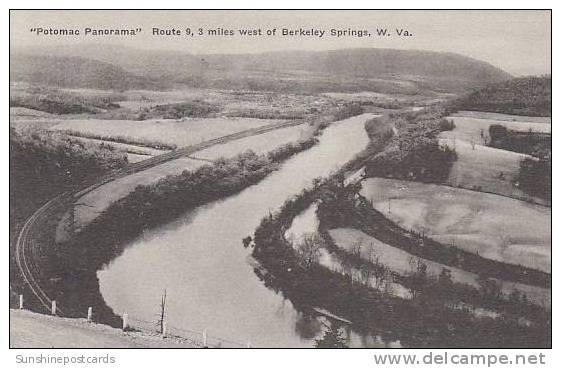
[[551,134],[551,124],[549,123],[466,118],[454,115],[448,117],[448,119],[453,120],[456,127],[453,130],[442,132],[440,137],[463,140],[470,144],[473,142],[474,144],[486,145],[490,142],[489,127],[495,124],[515,131]]

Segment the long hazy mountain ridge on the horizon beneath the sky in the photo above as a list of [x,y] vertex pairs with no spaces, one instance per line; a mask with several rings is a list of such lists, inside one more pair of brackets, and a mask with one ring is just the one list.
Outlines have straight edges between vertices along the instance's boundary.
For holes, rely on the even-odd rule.
[[[14,51],[12,58],[20,57],[26,66],[23,73],[20,66],[12,63],[16,71],[14,78],[32,79],[30,60],[37,58],[82,58],[91,62],[73,59],[76,66],[68,65],[67,70],[84,73],[84,76],[62,77],[54,74],[50,78],[33,74],[38,79],[56,84],[55,76],[62,83],[80,82],[88,84],[88,77],[95,77],[102,70],[108,76],[101,83],[111,85],[110,78],[115,78],[117,85],[126,87],[125,79],[131,79],[131,85],[158,81],[171,86],[174,83],[203,87],[228,88],[304,88],[309,81],[312,89],[317,91],[375,90],[385,88],[379,80],[407,81],[411,88],[404,89],[394,83],[397,90],[404,93],[416,93],[416,89],[431,89],[440,92],[462,92],[465,89],[482,87],[490,82],[505,81],[511,76],[488,63],[453,53],[432,51],[394,50],[394,49],[341,49],[332,51],[278,51],[257,54],[209,54],[193,55],[179,51],[139,50],[117,46],[84,45],[73,47],[44,47],[33,50]],[[56,56],[53,56],[56,55]],[[21,59],[24,57],[24,59]],[[44,59],[43,59],[44,60]],[[15,61],[15,60],[14,60]],[[36,62],[35,62],[36,63]],[[112,66],[113,68],[111,68]],[[90,70],[92,69],[92,70]],[[99,76],[99,75],[98,75]],[[280,82],[280,83],[275,83]],[[283,84],[284,83],[284,84]],[[279,87],[280,86],[280,87]]]

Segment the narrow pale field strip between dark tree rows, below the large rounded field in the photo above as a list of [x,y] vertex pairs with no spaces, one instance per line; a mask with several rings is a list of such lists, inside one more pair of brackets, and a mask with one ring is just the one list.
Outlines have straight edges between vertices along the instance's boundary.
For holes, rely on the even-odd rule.
[[[338,228],[329,230],[329,235],[338,247],[349,252],[360,244],[360,256],[362,258],[368,260],[370,255],[374,258],[378,257],[380,263],[402,276],[413,273],[416,270],[415,266],[412,266],[410,261],[412,259],[417,259],[418,257],[415,257],[401,249],[389,246],[360,230]],[[426,259],[421,260],[424,264],[426,264],[427,274],[430,276],[438,277],[442,269],[447,268],[450,270],[452,281],[479,288],[479,283],[477,281],[478,276],[474,273],[467,272],[456,267],[444,266],[440,263]],[[501,281],[499,284],[505,294],[510,294],[514,289],[517,289],[518,291],[526,294],[528,300],[537,305],[551,305],[551,290],[506,281]]]

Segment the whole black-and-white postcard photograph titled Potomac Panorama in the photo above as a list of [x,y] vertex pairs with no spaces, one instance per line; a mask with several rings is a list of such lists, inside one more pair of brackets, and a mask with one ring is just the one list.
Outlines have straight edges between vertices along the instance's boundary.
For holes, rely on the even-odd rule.
[[551,10],[9,21],[18,363],[552,348]]

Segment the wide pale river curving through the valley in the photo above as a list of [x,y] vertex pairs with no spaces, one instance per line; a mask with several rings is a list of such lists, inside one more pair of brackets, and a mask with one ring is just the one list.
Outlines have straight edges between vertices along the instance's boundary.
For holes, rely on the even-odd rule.
[[[117,314],[157,320],[167,292],[169,326],[203,331],[256,347],[310,347],[321,323],[265,287],[242,238],[289,197],[310,187],[364,149],[363,114],[332,124],[320,142],[287,160],[260,183],[146,231],[98,272],[106,303]],[[250,148],[250,147],[248,147]],[[352,346],[386,346],[351,332]]]

